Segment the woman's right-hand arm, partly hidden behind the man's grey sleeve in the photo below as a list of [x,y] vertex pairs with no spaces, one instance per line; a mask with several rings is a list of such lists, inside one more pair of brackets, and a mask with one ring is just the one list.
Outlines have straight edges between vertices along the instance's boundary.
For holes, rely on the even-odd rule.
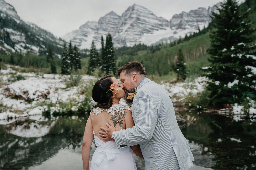
[[[132,128],[135,124],[133,122],[133,119],[132,119],[132,112],[130,110],[127,110],[126,109],[126,112],[127,112],[127,115],[125,116],[125,128]],[[134,146],[131,146],[132,148],[132,151],[139,157],[143,158],[143,155],[142,155],[142,152],[141,152],[141,148],[140,148],[140,145],[134,145]]]

